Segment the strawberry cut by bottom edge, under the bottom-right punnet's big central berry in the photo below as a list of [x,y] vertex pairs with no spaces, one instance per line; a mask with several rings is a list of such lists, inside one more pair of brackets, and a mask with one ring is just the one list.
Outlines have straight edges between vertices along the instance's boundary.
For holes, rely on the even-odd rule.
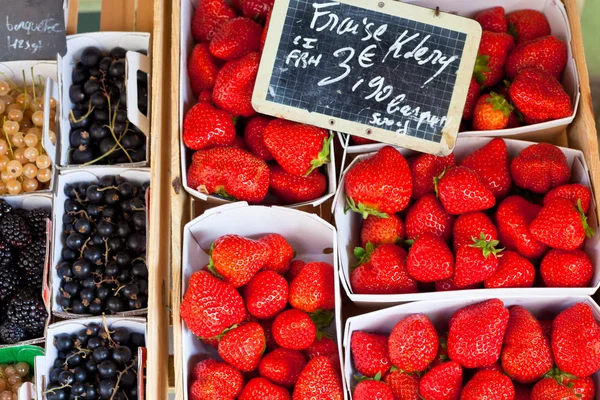
[[463,388],[461,400],[513,400],[515,387],[510,378],[499,371],[479,371]]

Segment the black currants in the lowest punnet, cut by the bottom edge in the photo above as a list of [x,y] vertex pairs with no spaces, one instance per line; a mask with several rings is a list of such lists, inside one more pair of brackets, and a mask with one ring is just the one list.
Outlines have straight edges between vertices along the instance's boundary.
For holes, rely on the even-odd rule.
[[47,400],[134,400],[138,398],[141,333],[127,328],[112,331],[91,323],[75,334],[54,338],[58,358],[50,369]]

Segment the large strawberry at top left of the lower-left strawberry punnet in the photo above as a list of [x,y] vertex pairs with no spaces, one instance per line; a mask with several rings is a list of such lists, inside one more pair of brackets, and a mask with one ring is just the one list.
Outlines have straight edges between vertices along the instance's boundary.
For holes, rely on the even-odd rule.
[[224,235],[211,245],[208,268],[235,287],[244,286],[267,263],[269,248],[258,240]]

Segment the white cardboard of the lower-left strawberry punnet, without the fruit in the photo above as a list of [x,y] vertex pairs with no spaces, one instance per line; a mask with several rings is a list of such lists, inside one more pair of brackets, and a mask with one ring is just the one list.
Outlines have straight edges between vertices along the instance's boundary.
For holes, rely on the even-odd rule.
[[[335,228],[315,214],[276,206],[248,206],[245,202],[212,208],[189,222],[183,231],[182,295],[188,287],[190,276],[208,264],[206,253],[210,244],[220,236],[235,233],[258,238],[268,233],[278,233],[292,245],[295,259],[324,261],[335,270],[335,319],[332,335],[338,346],[342,338],[341,294],[337,275],[337,244]],[[184,398],[188,399],[194,365],[207,357],[218,357],[215,349],[204,344],[181,324],[183,343]],[[341,346],[340,357],[341,357]],[[341,358],[340,358],[341,360]]]

